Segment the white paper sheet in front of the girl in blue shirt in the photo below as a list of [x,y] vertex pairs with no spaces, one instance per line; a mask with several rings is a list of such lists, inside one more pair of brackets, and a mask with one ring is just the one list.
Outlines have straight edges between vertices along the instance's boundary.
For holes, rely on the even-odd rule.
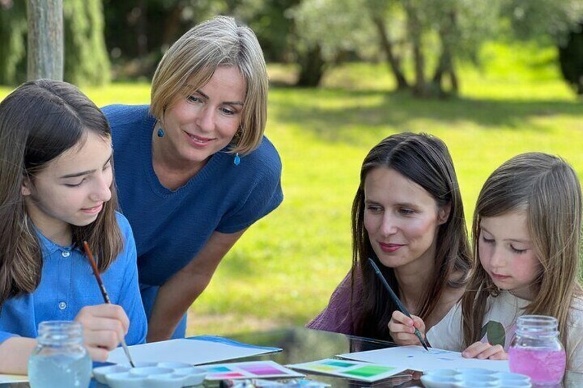
[[[171,339],[129,347],[134,362],[179,362],[192,365],[217,363],[234,358],[281,352],[279,347],[261,347],[240,343],[219,336],[195,336],[188,339]],[[121,347],[109,353],[110,363],[126,363]]]

